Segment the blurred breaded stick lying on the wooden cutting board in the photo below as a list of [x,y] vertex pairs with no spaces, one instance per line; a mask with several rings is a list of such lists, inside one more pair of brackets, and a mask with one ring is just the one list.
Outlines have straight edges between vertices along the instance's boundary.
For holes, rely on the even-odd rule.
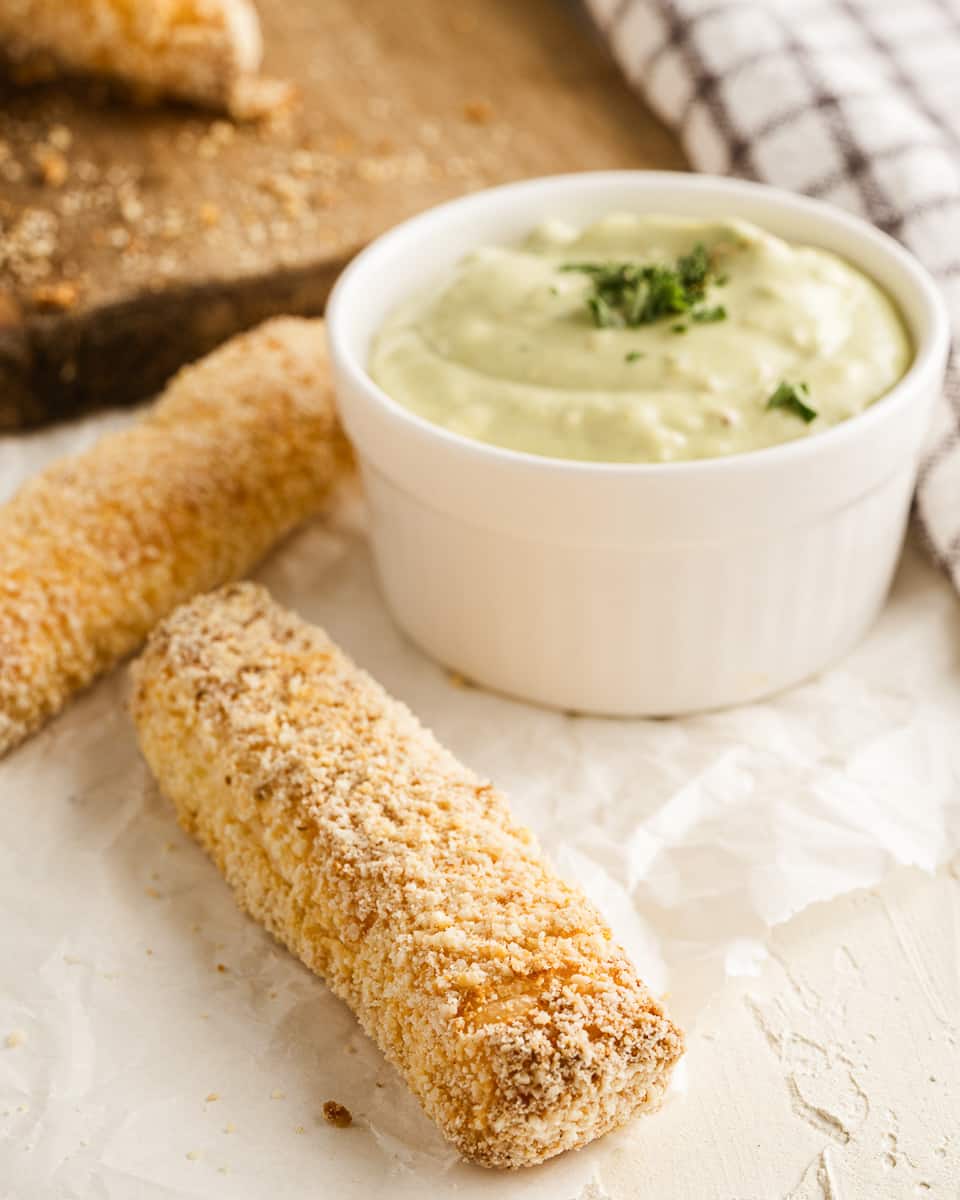
[[270,103],[289,95],[258,79],[251,0],[0,0],[0,46],[14,61],[43,54],[67,71],[240,116],[259,115],[246,112],[258,88],[275,89]]

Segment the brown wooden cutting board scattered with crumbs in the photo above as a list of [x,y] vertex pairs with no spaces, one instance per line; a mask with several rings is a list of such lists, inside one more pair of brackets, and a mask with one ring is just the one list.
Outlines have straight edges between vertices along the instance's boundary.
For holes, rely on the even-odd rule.
[[260,0],[299,103],[236,126],[102,84],[0,82],[0,428],[156,391],[317,313],[403,217],[505,180],[683,166],[560,0]]

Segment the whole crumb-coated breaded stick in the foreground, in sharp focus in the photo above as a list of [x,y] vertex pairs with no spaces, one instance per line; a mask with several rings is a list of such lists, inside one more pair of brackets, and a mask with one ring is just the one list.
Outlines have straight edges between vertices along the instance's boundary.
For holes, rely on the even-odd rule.
[[240,583],[179,608],[133,677],[184,827],[466,1158],[539,1163],[656,1106],[682,1036],[606,923],[322,630]]

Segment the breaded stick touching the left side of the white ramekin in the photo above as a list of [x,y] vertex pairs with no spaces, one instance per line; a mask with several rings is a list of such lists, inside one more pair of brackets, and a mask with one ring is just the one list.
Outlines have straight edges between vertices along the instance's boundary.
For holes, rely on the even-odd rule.
[[0,755],[178,604],[244,575],[347,461],[323,323],[281,318],[24,485],[0,506]]

